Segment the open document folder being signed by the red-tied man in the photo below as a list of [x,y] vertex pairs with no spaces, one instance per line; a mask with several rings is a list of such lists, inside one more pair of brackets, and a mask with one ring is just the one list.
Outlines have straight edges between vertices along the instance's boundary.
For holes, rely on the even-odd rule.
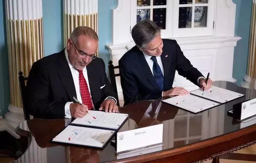
[[128,119],[128,114],[95,110],[88,112],[66,126],[51,142],[103,149]]

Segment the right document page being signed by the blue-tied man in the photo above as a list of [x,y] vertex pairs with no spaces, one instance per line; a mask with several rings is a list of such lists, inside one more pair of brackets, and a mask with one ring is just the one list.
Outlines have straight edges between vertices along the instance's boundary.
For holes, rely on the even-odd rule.
[[231,90],[226,90],[216,86],[212,86],[209,90],[204,90],[204,92],[203,90],[198,89],[191,91],[190,93],[200,97],[207,98],[209,100],[219,102],[221,104],[244,96],[241,93],[236,93]]

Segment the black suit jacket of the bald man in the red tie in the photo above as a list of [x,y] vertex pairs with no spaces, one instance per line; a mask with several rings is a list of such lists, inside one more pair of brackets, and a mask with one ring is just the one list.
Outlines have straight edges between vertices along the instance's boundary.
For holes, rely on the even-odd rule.
[[[102,59],[93,59],[86,68],[93,105],[97,110],[108,96],[116,98],[116,93],[108,81]],[[32,65],[27,88],[29,112],[34,118],[64,118],[65,104],[73,101],[73,96],[76,96],[64,50],[46,56]]]

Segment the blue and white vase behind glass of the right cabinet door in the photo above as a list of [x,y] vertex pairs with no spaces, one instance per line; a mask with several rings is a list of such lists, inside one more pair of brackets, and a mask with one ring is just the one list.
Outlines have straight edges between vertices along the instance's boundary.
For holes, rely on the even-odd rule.
[[[205,13],[205,7],[195,7],[195,21],[194,21],[194,27],[198,27],[201,25],[201,22],[204,17]],[[191,20],[192,19],[192,7],[187,8],[187,17],[186,17],[186,24],[191,26]]]

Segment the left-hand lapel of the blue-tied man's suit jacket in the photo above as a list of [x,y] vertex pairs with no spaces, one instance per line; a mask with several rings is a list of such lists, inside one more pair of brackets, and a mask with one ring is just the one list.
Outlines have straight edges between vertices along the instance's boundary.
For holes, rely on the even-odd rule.
[[157,82],[154,79],[154,76],[148,66],[148,63],[147,63],[142,51],[138,52],[137,61],[138,61],[138,66],[139,66],[140,70],[143,72],[143,75],[148,80],[148,82],[150,82],[154,88],[159,89],[159,87],[157,86]]

